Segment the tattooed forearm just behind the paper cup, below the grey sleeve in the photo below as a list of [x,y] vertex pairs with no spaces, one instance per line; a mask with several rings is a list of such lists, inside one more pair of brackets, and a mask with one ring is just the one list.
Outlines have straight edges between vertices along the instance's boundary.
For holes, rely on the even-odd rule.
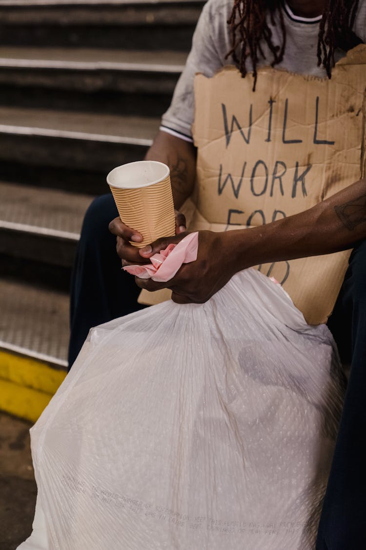
[[195,182],[196,157],[193,144],[160,131],[145,159],[164,162],[170,168],[174,207],[178,210],[192,193]]

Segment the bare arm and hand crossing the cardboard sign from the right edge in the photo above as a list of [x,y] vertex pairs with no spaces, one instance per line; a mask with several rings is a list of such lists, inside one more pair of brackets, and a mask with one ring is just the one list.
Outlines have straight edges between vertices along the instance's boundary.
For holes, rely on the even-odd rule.
[[[149,258],[184,237],[158,239],[139,254]],[[238,271],[260,263],[329,254],[366,238],[366,180],[360,180],[313,208],[266,226],[223,233],[199,232],[198,257],[167,283],[136,279],[141,288],[172,289],[179,304],[201,303]]]

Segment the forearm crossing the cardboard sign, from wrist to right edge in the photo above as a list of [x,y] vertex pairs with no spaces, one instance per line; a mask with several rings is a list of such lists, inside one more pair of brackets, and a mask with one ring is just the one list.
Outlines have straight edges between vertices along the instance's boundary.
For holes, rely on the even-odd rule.
[[[233,235],[236,233],[236,235]],[[236,230],[237,271],[259,263],[330,254],[366,238],[366,180],[288,218]]]

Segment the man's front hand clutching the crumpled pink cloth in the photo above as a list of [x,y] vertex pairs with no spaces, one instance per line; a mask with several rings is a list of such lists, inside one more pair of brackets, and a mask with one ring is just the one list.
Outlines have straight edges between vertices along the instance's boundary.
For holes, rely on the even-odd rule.
[[[150,246],[140,249],[139,254],[148,260],[156,252],[167,248],[169,244],[179,243],[187,234],[158,239]],[[140,288],[151,292],[170,288],[172,300],[177,304],[204,303],[221,289],[235,273],[229,243],[230,238],[227,233],[200,231],[196,261],[183,264],[177,274],[166,283],[157,283],[152,279],[138,277],[135,277],[135,281]]]

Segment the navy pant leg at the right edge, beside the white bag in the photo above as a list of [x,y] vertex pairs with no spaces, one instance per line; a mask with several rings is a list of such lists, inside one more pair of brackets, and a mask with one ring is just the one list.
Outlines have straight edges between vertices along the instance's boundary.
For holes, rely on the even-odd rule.
[[317,550],[366,548],[366,240],[354,248],[329,328],[351,372],[333,456]]

